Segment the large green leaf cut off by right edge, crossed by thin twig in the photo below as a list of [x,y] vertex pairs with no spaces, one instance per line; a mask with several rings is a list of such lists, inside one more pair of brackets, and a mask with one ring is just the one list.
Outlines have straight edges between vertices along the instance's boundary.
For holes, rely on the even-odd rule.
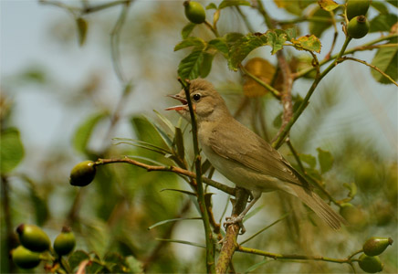
[[[390,40],[390,43],[397,43],[398,39],[394,38]],[[372,65],[380,68],[383,72],[389,75],[393,80],[398,80],[398,47],[382,47],[376,52],[376,55],[372,59]],[[389,79],[382,76],[381,73],[371,68],[373,78],[382,84],[392,84]]]

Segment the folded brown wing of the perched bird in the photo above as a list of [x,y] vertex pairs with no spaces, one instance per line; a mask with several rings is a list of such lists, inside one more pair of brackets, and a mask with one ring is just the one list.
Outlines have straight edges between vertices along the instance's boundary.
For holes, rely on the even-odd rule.
[[[236,142],[236,136],[239,142]],[[224,158],[244,164],[258,173],[274,176],[281,181],[309,187],[308,182],[283,158],[282,154],[238,121],[219,123],[210,134],[208,142],[213,151]]]

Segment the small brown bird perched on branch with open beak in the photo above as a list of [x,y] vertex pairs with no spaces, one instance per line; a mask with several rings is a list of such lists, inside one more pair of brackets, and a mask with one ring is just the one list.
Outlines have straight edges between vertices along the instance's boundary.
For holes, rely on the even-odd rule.
[[[245,210],[239,216],[229,217],[227,224],[242,225],[244,216],[262,193],[270,191],[283,191],[298,197],[333,229],[346,224],[345,219],[314,192],[307,179],[281,153],[236,121],[211,82],[193,79],[188,87],[202,152],[217,172],[253,196]],[[182,104],[166,111],[177,111],[191,121],[185,91],[169,96]]]

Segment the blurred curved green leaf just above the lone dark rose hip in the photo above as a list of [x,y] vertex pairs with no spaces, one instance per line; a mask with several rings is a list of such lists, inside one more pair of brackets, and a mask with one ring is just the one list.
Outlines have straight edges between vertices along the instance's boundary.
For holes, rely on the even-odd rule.
[[73,147],[79,153],[87,153],[87,146],[89,144],[89,138],[93,132],[95,126],[104,119],[108,117],[108,113],[100,112],[89,116],[86,121],[80,123],[75,135],[73,136]]

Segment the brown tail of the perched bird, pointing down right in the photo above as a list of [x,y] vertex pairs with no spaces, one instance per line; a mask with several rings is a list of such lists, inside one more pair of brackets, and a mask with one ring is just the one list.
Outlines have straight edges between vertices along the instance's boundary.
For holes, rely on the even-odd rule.
[[309,206],[323,221],[333,229],[339,229],[341,224],[347,225],[347,221],[337,214],[330,205],[326,204],[316,193],[297,184],[289,185],[299,199]]

